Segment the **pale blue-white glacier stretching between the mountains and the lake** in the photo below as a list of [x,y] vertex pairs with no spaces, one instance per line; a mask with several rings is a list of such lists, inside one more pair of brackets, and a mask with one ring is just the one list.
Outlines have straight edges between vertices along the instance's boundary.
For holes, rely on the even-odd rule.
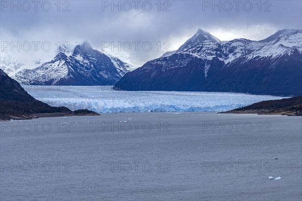
[[112,86],[22,86],[50,106],[97,113],[221,112],[283,98],[229,92],[117,91]]

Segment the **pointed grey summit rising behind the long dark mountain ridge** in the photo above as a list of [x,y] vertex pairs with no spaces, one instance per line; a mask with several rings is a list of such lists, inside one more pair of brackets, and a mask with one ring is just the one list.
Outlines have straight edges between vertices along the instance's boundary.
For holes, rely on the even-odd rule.
[[194,36],[192,36],[182,46],[180,46],[180,48],[176,51],[176,53],[180,53],[203,41],[220,41],[220,40],[215,36],[211,35],[210,33],[203,31],[202,29],[198,29],[196,34],[194,34]]

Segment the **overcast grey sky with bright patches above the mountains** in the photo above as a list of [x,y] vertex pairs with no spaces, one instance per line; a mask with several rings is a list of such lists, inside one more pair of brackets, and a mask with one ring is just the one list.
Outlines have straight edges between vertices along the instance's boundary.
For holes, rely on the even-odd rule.
[[[1,1],[1,41],[40,42],[37,51],[33,51],[32,43],[29,52],[22,48],[20,52],[17,48],[13,52],[7,51],[10,48],[3,51],[2,47],[1,54],[10,52],[24,63],[39,59],[44,62],[55,56],[57,42],[75,45],[87,40],[94,49],[102,51],[103,45],[105,53],[140,66],[160,57],[165,48],[165,51],[178,49],[198,28],[220,40],[261,40],[281,29],[302,29],[299,0],[120,1],[114,4],[117,6],[114,7],[112,1],[61,1],[60,4],[39,1],[36,5],[32,1],[15,1],[12,5],[11,1]],[[52,45],[49,52],[41,47],[45,41]],[[124,44],[120,50],[119,42]],[[112,44],[116,46],[113,48]]]

